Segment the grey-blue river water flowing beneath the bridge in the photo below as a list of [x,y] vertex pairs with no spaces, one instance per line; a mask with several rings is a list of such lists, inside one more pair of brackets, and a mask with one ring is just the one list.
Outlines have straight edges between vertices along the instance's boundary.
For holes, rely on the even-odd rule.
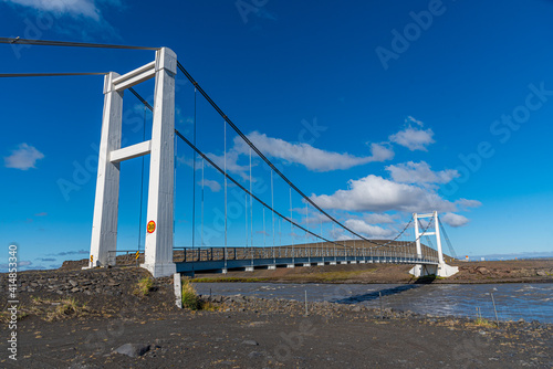
[[[265,298],[327,301],[337,304],[383,306],[418,314],[553,323],[553,283],[544,284],[278,284],[199,283],[199,294],[246,295]],[[492,301],[493,297],[493,301]]]

